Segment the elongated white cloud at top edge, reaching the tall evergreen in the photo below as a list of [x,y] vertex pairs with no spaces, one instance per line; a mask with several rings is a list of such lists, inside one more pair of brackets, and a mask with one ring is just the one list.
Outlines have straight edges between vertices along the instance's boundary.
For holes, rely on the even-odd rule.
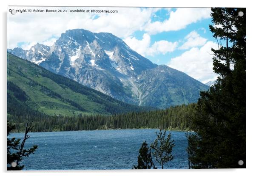
[[210,8],[177,8],[176,11],[171,11],[170,18],[163,22],[148,22],[145,25],[145,31],[149,34],[156,34],[181,30],[191,23],[210,18],[210,12]]

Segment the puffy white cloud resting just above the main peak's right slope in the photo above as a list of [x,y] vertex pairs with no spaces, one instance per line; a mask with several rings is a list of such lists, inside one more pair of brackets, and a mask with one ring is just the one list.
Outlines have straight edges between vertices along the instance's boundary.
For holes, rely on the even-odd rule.
[[129,47],[131,47],[131,49],[143,56],[154,56],[159,53],[165,55],[168,52],[173,52],[178,45],[178,42],[161,40],[155,41],[154,44],[150,46],[151,37],[147,33],[143,34],[142,40],[138,40],[135,37],[128,37],[125,38],[123,41],[125,41],[125,43],[128,44]]

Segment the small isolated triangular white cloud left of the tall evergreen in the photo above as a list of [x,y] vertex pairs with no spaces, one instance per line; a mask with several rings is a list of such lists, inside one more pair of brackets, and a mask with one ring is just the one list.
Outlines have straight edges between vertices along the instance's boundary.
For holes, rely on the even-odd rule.
[[181,47],[180,50],[187,50],[191,47],[199,47],[205,44],[206,38],[201,37],[195,30],[189,33],[185,39],[187,40]]

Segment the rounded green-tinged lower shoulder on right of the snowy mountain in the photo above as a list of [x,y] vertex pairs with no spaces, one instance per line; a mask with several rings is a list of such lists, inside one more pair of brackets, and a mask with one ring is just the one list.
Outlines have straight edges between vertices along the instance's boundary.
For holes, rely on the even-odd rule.
[[165,104],[197,102],[200,91],[208,89],[203,83],[166,65],[142,71],[137,85],[143,90],[141,105],[159,108],[164,108]]

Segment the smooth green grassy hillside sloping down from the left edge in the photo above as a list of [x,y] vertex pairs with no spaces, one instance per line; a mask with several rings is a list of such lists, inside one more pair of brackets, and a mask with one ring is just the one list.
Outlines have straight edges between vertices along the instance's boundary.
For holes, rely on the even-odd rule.
[[7,58],[8,114],[110,115],[150,110],[120,102],[9,53]]

